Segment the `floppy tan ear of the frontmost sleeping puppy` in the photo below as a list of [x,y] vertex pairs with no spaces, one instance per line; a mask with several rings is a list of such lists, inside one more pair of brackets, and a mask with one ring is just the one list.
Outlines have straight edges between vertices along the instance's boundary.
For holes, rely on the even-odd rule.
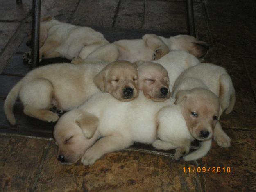
[[90,139],[98,127],[99,119],[95,115],[81,110],[80,115],[75,122],[82,129],[84,136],[87,139]]

